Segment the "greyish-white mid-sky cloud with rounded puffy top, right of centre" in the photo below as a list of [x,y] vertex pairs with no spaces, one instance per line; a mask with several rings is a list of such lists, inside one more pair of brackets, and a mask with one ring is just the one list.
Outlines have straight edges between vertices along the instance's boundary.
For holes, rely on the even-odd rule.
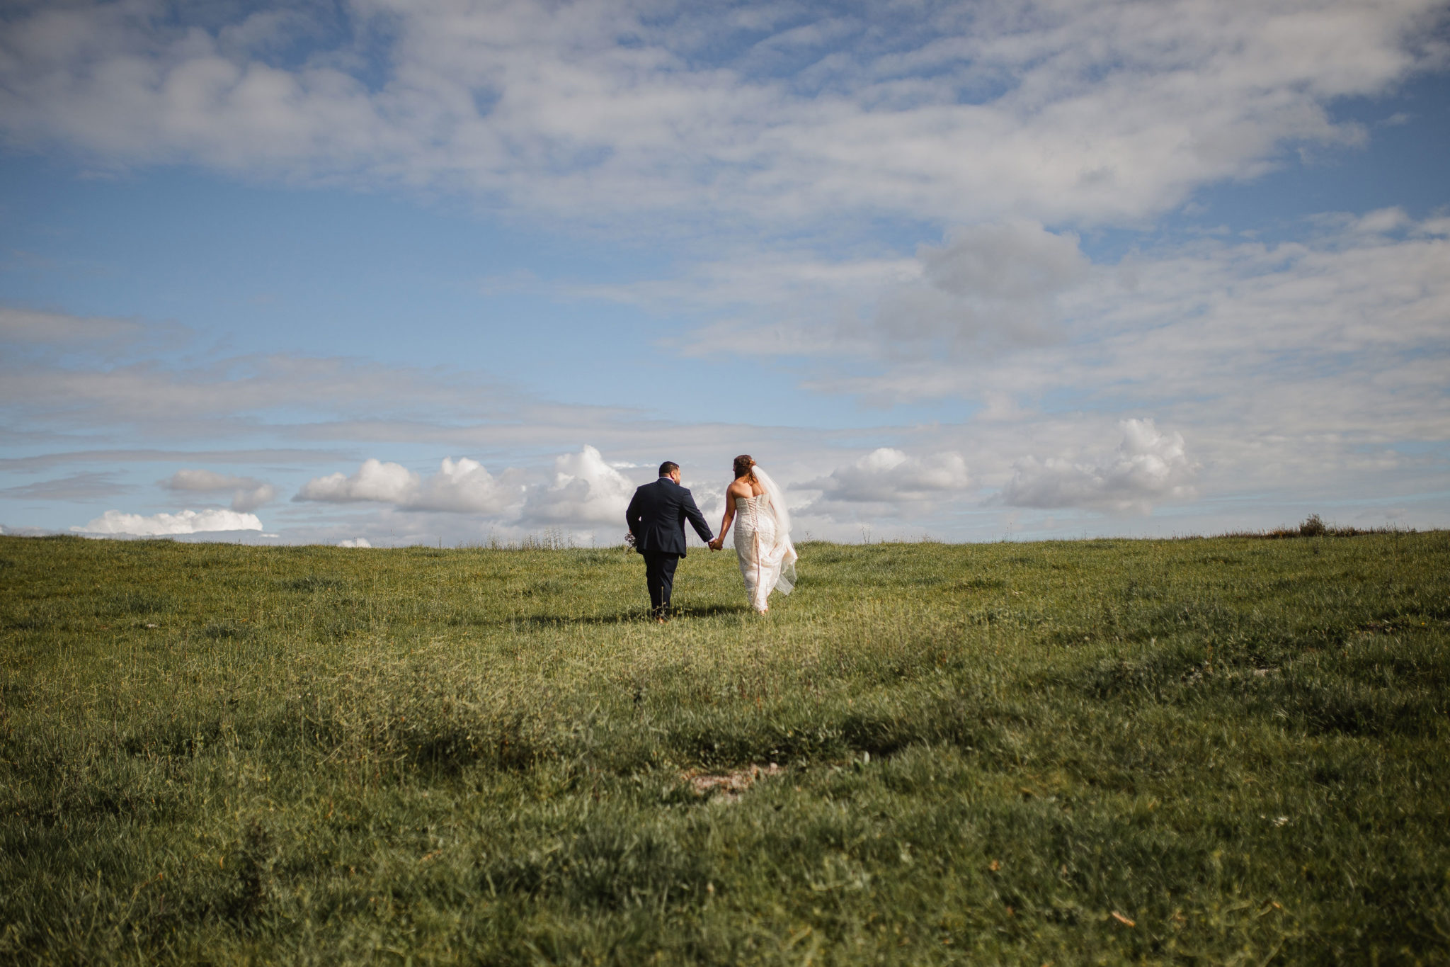
[[961,358],[1060,339],[1061,297],[1090,268],[1076,235],[1006,219],[954,228],[912,258],[747,254],[686,280],[593,293],[658,312],[728,307],[683,341],[689,355]]

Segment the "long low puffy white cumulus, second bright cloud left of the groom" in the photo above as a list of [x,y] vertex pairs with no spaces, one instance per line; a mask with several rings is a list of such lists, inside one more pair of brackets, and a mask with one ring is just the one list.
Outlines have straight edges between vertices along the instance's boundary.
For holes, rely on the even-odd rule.
[[399,510],[503,513],[522,497],[521,471],[510,468],[494,477],[476,460],[445,457],[438,473],[426,478],[402,464],[370,458],[352,476],[335,473],[309,480],[293,500],[367,500],[390,503]]

